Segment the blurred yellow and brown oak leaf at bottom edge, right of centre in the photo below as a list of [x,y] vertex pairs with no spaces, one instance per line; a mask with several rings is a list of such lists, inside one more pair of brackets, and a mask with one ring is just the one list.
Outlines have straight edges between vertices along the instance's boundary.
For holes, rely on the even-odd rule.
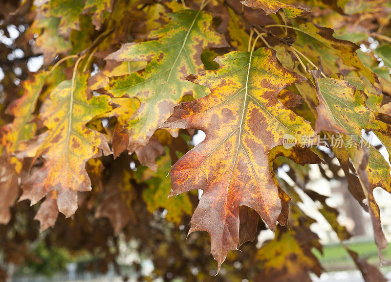
[[[292,198],[298,197],[293,189],[288,193]],[[321,275],[322,266],[312,250],[322,253],[322,246],[319,237],[309,228],[315,220],[306,216],[294,203],[290,209],[289,230],[279,226],[275,238],[258,250],[255,259],[261,265],[261,271],[254,281],[311,282],[309,271],[318,277]]]

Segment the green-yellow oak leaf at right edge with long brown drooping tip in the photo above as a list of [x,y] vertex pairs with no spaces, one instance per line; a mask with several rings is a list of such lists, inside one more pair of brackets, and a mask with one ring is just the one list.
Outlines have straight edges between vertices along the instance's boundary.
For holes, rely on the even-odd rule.
[[[320,71],[311,71],[311,74],[316,83],[319,100],[319,106],[316,108],[318,111],[317,131],[326,130],[338,133],[340,128],[345,131],[346,134],[339,135],[340,144],[335,142],[332,149],[334,152],[338,151],[336,152],[337,157],[346,160],[345,165],[348,165],[349,157],[355,164],[360,183],[357,192],[354,192],[353,196],[361,205],[363,205],[364,198],[368,200],[375,241],[379,248],[379,254],[381,254],[380,250],[387,247],[387,240],[380,225],[380,209],[373,197],[373,189],[382,187],[391,192],[390,166],[380,152],[367,144],[367,141],[361,137],[361,131],[363,129],[372,130],[380,141],[386,147],[389,147],[388,139],[391,126],[383,122],[376,112],[365,106],[367,96],[359,90],[356,91],[355,87],[347,81],[335,78],[320,78]],[[336,122],[336,126],[333,124],[325,126],[323,123],[318,123],[319,117],[332,117]],[[363,156],[364,153],[358,146],[359,144],[364,146],[365,149],[367,149],[365,146],[368,146],[365,156]],[[361,167],[362,163],[365,163],[363,167]]]

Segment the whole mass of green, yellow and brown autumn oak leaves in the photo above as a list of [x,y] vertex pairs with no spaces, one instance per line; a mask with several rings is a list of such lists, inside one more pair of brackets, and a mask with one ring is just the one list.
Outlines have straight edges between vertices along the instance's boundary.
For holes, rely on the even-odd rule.
[[[344,175],[381,257],[387,241],[372,192],[391,192],[390,166],[361,136],[373,132],[390,152],[388,0],[12,2],[0,22],[2,39],[10,26],[21,33],[0,42],[6,262],[36,259],[28,242],[40,237],[38,220],[41,232],[51,228],[48,246],[85,249],[102,270],[122,234],[153,258],[156,277],[207,281],[207,238],[184,242],[177,230],[192,215],[189,234],[209,233],[217,271],[230,261],[218,279],[310,281],[308,272],[322,271],[311,250],[322,246],[298,205],[303,195],[341,241],[350,235],[326,198],[305,188],[305,164]],[[29,72],[39,55],[42,68]],[[195,129],[206,139],[190,149]],[[283,147],[285,135],[297,145]],[[304,146],[324,136],[329,150]],[[331,146],[335,136],[343,146]],[[296,185],[276,173],[283,164]],[[259,249],[265,228],[276,236]],[[367,282],[384,281],[347,252]]]

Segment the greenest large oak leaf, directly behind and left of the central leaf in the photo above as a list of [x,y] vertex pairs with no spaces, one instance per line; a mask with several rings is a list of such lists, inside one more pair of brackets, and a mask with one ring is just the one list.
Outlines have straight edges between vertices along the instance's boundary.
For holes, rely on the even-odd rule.
[[125,127],[130,139],[124,147],[130,153],[148,143],[184,95],[207,94],[207,89],[181,78],[203,69],[200,59],[203,49],[226,46],[224,37],[212,30],[210,14],[184,10],[171,14],[171,18],[169,24],[150,32],[149,41],[127,43],[107,57],[149,62],[141,71],[111,78],[106,88],[114,97],[128,96],[141,102]]

